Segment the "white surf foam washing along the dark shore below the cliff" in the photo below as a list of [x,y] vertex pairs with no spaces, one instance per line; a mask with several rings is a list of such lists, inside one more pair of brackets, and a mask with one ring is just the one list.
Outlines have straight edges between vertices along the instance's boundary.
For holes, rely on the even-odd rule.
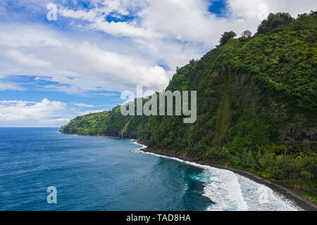
[[[146,146],[133,142],[142,148]],[[271,188],[258,184],[251,179],[235,174],[228,169],[218,169],[207,165],[200,165],[196,162],[180,160],[179,158],[158,155],[155,153],[137,152],[149,155],[155,155],[161,158],[169,158],[183,162],[194,167],[204,169],[203,176],[196,177],[199,181],[204,182],[204,196],[211,199],[214,203],[206,210],[237,210],[237,211],[293,211],[302,210],[292,201],[283,198]],[[261,200],[264,195],[265,199]]]

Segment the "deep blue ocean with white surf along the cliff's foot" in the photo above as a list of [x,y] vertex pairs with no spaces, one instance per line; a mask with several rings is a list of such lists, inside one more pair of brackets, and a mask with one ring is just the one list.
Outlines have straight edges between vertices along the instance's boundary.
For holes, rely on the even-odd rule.
[[[142,153],[134,140],[0,128],[0,210],[300,210],[225,169]],[[56,188],[49,204],[48,187]]]

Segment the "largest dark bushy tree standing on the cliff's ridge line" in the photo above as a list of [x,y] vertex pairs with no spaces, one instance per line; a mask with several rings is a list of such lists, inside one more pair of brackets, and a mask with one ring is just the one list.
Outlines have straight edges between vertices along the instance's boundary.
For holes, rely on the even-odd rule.
[[258,27],[258,34],[265,34],[268,31],[273,31],[276,27],[280,25],[285,25],[292,22],[294,18],[290,13],[270,13],[266,20],[263,20]]

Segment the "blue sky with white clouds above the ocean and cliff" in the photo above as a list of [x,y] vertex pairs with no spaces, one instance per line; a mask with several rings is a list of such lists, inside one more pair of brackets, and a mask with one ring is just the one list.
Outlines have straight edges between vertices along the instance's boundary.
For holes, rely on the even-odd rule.
[[162,91],[223,32],[316,9],[315,0],[1,0],[0,127],[60,127],[120,105],[137,85]]

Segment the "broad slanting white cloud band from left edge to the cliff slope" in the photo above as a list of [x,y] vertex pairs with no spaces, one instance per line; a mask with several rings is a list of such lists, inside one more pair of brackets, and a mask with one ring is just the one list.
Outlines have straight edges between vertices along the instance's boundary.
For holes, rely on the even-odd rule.
[[64,34],[58,37],[46,27],[42,27],[42,32],[46,30],[44,33],[51,40],[48,44],[42,45],[42,39],[40,43],[30,44],[35,41],[32,37],[36,37],[38,31],[32,26],[24,29],[26,35],[13,41],[17,26],[12,29],[11,25],[0,24],[7,28],[6,39],[0,36],[0,49],[5,52],[0,56],[1,72],[5,75],[37,75],[35,80],[41,76],[61,84],[50,84],[43,89],[73,94],[92,90],[122,91],[135,84],[163,89],[171,77],[170,71],[148,58],[110,51],[107,47],[77,41]]

